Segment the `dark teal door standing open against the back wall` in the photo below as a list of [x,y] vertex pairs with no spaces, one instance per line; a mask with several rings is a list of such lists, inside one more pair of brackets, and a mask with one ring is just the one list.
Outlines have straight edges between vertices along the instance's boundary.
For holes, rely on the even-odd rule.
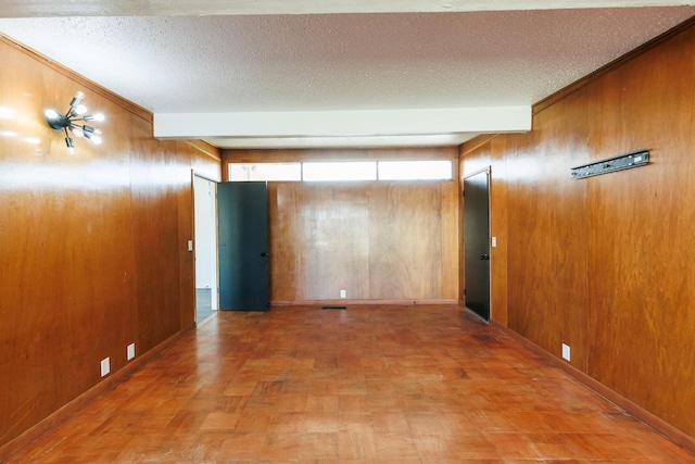
[[268,310],[266,190],[266,183],[217,186],[220,310]]

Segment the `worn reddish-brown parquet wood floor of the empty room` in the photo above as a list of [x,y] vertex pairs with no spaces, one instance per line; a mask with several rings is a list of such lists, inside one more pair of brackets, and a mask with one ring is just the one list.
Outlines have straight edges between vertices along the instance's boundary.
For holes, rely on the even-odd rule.
[[219,313],[11,463],[695,463],[457,308]]

